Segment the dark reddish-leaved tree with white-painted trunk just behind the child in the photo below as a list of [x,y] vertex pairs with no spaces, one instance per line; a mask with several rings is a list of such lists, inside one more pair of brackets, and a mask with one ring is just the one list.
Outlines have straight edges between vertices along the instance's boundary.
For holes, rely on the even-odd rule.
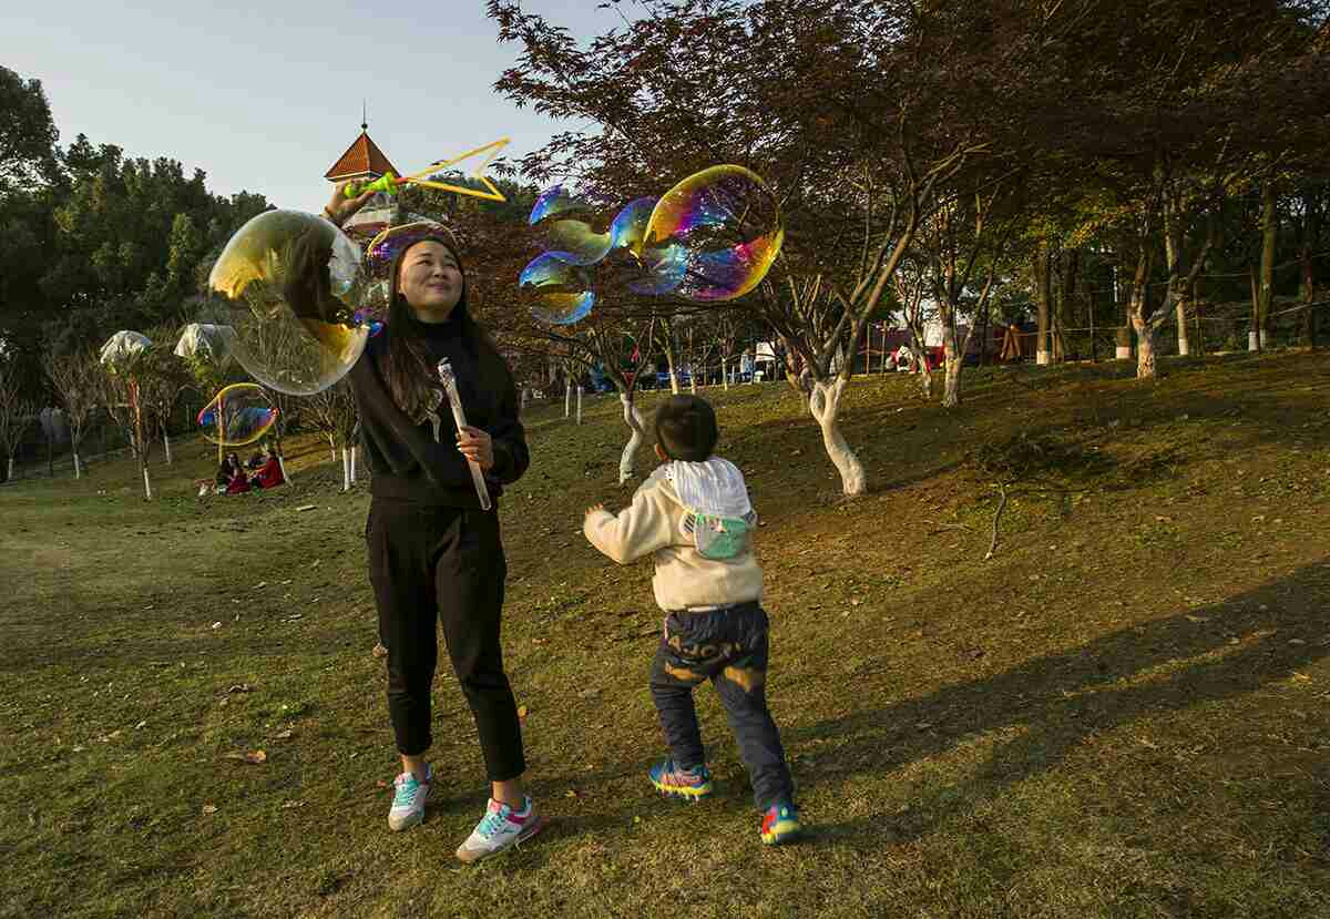
[[907,3],[648,8],[646,19],[583,48],[519,3],[491,0],[500,40],[521,44],[496,89],[595,125],[559,134],[524,172],[535,181],[568,176],[601,199],[660,194],[718,162],[761,174],[782,210],[785,250],[741,305],[802,362],[843,489],[863,493],[863,465],[837,424],[854,362],[833,362],[857,347],[939,182],[987,149],[964,126],[940,129],[950,114],[942,82],[918,76],[964,49],[955,33],[946,48],[926,36],[918,23],[927,15]]

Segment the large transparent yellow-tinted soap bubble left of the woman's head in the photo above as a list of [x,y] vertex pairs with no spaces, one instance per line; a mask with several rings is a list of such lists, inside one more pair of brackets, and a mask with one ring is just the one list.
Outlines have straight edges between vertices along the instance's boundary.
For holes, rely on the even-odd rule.
[[270,210],[230,238],[207,278],[200,322],[229,326],[231,355],[263,386],[313,395],[342,379],[370,328],[360,250],[332,223]]

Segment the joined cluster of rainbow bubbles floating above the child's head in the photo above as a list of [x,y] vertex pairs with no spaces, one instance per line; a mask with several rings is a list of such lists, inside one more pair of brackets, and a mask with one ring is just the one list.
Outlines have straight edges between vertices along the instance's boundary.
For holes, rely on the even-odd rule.
[[785,238],[775,196],[743,166],[712,166],[661,198],[630,201],[604,233],[591,223],[595,210],[563,186],[532,207],[529,223],[547,251],[519,285],[541,322],[579,322],[606,295],[742,297],[766,277]]

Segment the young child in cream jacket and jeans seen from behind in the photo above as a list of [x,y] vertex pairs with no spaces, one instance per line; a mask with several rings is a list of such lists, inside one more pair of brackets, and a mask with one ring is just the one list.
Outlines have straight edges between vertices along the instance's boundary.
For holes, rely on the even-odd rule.
[[721,697],[762,814],[762,842],[799,834],[794,786],[781,735],[766,708],[769,624],[762,569],[753,557],[757,515],[743,475],[713,456],[720,432],[704,399],[673,396],[656,414],[656,456],[664,463],[617,517],[587,511],[583,532],[597,549],[626,564],[654,553],[652,581],[665,610],[652,698],[672,757],[652,766],[652,785],[696,801],[712,791],[693,688],[710,680]]

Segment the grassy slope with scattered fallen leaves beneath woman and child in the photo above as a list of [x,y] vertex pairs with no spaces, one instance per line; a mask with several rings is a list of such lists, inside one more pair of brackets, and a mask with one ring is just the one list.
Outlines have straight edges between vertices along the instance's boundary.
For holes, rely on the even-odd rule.
[[528,416],[505,656],[553,823],[475,868],[448,673],[428,819],[386,829],[368,493],[325,447],[273,493],[197,500],[197,442],[153,503],[129,463],[0,488],[0,916],[1330,916],[1330,360],[1165,367],[984,371],[954,412],[857,380],[851,503],[787,387],[708,392],[813,829],[781,850],[709,689],[717,794],[644,779],[650,565],[580,535],[630,493],[617,400]]

